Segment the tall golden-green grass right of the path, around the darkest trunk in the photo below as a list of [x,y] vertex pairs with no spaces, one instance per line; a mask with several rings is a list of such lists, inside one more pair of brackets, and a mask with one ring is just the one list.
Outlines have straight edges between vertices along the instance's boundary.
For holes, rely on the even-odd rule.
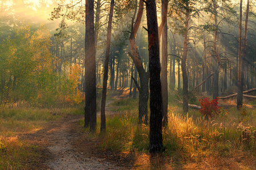
[[[221,108],[216,117],[208,119],[195,110],[184,114],[181,107],[172,104],[168,108],[168,126],[163,128],[163,155],[172,158],[174,164],[180,160],[202,162],[210,156],[236,157],[241,152],[256,156],[255,109],[243,108],[238,112]],[[100,139],[101,150],[147,154],[149,125],[138,124],[137,106],[138,100],[133,99],[110,104],[116,114],[107,115],[106,133],[100,133],[98,120],[97,133],[91,134]]]

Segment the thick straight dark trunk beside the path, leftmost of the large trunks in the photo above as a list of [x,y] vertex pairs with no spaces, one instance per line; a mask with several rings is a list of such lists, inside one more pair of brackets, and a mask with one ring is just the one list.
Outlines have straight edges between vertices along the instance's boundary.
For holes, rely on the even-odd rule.
[[96,130],[96,48],[93,0],[85,1],[85,126]]

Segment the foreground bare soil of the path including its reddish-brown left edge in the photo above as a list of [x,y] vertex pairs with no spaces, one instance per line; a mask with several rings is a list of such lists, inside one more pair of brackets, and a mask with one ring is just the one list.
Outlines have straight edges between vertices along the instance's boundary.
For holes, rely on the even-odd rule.
[[[24,134],[23,137],[34,141],[44,155],[38,169],[123,169],[92,154],[95,143],[84,138],[86,132],[77,124],[81,118],[67,116],[61,121],[50,122],[45,129]],[[82,145],[78,142],[81,138],[85,140]]]

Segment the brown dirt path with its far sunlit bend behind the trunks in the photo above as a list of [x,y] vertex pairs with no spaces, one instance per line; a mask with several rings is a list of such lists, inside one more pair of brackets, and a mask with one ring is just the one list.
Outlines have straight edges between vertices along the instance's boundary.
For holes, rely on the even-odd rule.
[[[129,96],[129,91],[119,89],[118,94],[111,94],[106,101],[106,115],[115,114],[110,111],[109,104],[113,99]],[[52,113],[55,114],[55,113]],[[100,112],[97,112],[100,116]],[[84,116],[66,115],[61,120],[48,122],[43,129],[25,133],[22,138],[30,141],[42,157],[34,166],[36,169],[129,169],[129,166],[119,164],[114,153],[104,153],[98,150],[97,139],[88,137],[78,124]]]

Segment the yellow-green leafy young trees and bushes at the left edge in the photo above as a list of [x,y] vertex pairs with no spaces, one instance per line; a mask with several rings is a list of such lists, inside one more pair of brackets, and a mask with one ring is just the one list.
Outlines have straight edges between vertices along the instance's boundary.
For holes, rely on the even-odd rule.
[[60,60],[52,57],[50,38],[44,25],[35,32],[23,25],[15,28],[14,39],[9,37],[0,44],[0,104],[24,100],[49,107],[84,100],[77,89],[80,67],[72,65],[70,71],[57,73]]

